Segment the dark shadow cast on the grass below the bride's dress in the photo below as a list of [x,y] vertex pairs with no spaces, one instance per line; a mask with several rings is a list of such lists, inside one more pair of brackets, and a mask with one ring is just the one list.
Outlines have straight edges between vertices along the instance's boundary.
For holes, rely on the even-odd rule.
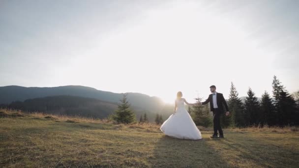
[[228,168],[219,153],[207,141],[180,140],[163,136],[156,142],[152,167],[158,168]]

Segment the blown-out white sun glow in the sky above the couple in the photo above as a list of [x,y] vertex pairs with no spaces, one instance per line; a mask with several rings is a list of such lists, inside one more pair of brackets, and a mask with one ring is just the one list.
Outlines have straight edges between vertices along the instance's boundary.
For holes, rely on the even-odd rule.
[[[237,85],[248,83],[246,76],[259,73],[263,62],[271,61],[257,49],[258,43],[248,39],[248,34],[229,18],[198,3],[163,5],[145,11],[130,22],[131,26],[107,34],[89,51],[87,56],[91,57],[73,60],[86,65],[77,73],[93,72],[95,76],[100,73],[102,79],[110,79],[93,79],[90,83],[94,87],[114,92],[141,92],[161,97],[168,103],[174,102],[180,90],[194,102],[197,95],[207,98],[211,84],[222,87],[221,92],[228,96],[232,81]],[[257,69],[247,71],[247,64],[252,62]],[[219,72],[223,75],[219,76]],[[267,68],[263,73],[272,77]],[[240,89],[247,90],[248,86],[245,84]],[[250,86],[261,92],[268,88]]]

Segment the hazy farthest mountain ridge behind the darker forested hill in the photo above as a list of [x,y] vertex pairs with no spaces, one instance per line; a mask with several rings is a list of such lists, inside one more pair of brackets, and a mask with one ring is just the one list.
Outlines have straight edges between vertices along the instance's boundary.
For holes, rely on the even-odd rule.
[[[58,87],[22,87],[11,85],[0,87],[0,104],[57,95],[88,97],[105,102],[118,103],[123,93],[113,93],[78,85]],[[149,112],[160,112],[165,106],[165,103],[160,98],[150,97],[141,93],[128,93],[128,100],[132,106]]]

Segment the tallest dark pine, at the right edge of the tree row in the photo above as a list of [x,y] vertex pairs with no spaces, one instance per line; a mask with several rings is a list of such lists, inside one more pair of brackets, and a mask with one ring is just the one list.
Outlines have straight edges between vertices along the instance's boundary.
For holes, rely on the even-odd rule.
[[273,97],[275,98],[274,106],[279,118],[280,126],[294,125],[298,121],[298,111],[296,102],[289,92],[284,88],[276,76],[273,77]]

